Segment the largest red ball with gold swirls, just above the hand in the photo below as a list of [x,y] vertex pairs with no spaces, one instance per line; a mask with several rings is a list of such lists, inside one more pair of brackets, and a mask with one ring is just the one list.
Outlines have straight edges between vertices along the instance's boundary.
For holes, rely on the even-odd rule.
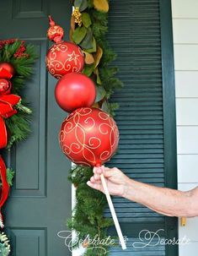
[[112,117],[98,108],[82,107],[62,123],[62,151],[74,163],[100,166],[115,154],[119,130]]

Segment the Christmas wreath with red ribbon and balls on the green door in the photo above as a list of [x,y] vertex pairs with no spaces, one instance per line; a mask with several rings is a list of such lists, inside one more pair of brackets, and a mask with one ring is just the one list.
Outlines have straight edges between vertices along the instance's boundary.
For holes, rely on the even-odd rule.
[[[30,114],[25,100],[20,96],[25,79],[32,74],[35,62],[35,48],[18,39],[0,41],[0,149],[11,150],[13,144],[27,138]],[[0,155],[0,226],[3,228],[2,207],[8,199],[14,172],[6,168]],[[8,238],[0,233],[1,255],[8,255]]]

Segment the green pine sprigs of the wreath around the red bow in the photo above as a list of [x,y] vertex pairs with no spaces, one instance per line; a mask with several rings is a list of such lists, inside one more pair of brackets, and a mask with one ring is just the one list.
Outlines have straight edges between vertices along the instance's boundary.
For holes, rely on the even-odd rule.
[[[11,79],[13,84],[12,93],[21,95],[26,79],[32,74],[32,66],[35,63],[35,46],[25,45],[24,55],[20,57],[14,56],[19,51],[22,41],[14,41],[13,44],[7,44],[0,50],[0,63],[11,63],[15,70],[15,74]],[[29,121],[31,110],[28,106],[22,105],[21,101],[16,106],[18,113],[5,119],[10,137],[8,138],[7,149],[9,150],[13,144],[24,140],[30,133]]]

